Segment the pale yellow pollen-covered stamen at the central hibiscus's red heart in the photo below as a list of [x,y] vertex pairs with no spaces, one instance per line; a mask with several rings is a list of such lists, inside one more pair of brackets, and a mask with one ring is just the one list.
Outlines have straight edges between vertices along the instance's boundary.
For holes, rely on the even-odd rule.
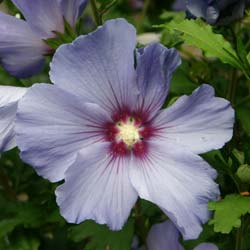
[[132,117],[125,122],[118,122],[116,126],[119,130],[117,139],[123,141],[128,148],[132,148],[140,140],[139,127],[136,126],[135,120]]

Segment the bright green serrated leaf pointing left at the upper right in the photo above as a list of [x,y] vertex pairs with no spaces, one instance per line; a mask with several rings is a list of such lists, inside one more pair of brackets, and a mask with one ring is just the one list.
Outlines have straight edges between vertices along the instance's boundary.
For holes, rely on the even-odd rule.
[[216,57],[223,63],[242,69],[241,62],[231,44],[221,34],[214,33],[212,26],[200,19],[172,21],[164,26],[170,31],[182,32],[185,43],[202,49],[207,57]]

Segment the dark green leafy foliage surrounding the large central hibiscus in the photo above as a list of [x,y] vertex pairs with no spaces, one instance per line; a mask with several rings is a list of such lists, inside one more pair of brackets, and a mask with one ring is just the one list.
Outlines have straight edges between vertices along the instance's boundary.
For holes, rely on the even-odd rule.
[[[135,25],[138,34],[150,32],[150,37],[153,32],[154,39],[159,37],[165,46],[179,50],[183,62],[174,74],[166,106],[179,96],[190,94],[202,83],[211,84],[217,96],[232,102],[236,109],[233,140],[222,150],[203,155],[219,173],[217,182],[224,202],[209,205],[211,210],[215,210],[213,219],[204,226],[198,240],[183,242],[183,245],[186,249],[193,249],[199,242],[209,241],[217,244],[219,249],[249,250],[249,13],[246,11],[245,17],[238,22],[212,29],[201,20],[185,20],[184,12],[171,11],[172,1],[98,0],[97,4],[102,9],[108,6],[103,14],[104,20],[124,17]],[[0,10],[21,15],[10,0],[1,1]],[[80,34],[96,28],[92,16],[88,6],[79,21]],[[138,40],[138,46],[142,46],[143,41]],[[22,80],[10,76],[0,67],[0,84],[27,87],[33,83],[49,82],[50,61],[51,57],[48,57],[42,73]],[[140,200],[120,232],[111,232],[106,226],[97,225],[93,221],[80,225],[68,224],[60,216],[55,202],[54,190],[57,185],[39,177],[30,166],[24,164],[19,158],[18,149],[2,154],[0,250],[143,249],[151,225],[166,219],[155,205]],[[236,197],[229,194],[235,194]],[[236,211],[235,207],[239,209]],[[224,214],[218,212],[219,208],[222,208]],[[232,221],[225,219],[229,217]],[[238,222],[237,228],[235,221]]]

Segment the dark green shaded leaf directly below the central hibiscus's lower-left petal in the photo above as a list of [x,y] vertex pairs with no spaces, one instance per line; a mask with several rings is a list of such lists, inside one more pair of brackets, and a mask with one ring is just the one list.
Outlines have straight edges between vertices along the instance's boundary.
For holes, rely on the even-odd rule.
[[110,231],[105,225],[86,221],[69,229],[69,238],[75,242],[90,239],[84,250],[130,250],[134,235],[133,220],[129,220],[121,231]]

